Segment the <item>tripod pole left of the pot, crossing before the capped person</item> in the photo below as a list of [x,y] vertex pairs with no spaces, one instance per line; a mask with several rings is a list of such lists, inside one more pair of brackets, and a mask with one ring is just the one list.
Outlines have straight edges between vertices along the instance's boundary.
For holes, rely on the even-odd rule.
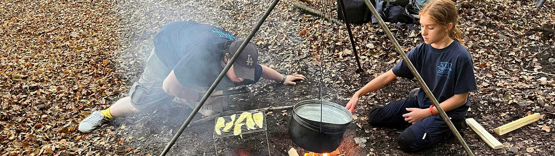
[[[208,99],[208,97],[210,97],[210,94],[212,94],[212,92],[214,91],[214,89],[216,88],[216,85],[218,85],[218,83],[220,83],[221,79],[224,78],[225,74],[229,71],[229,68],[231,68],[231,65],[233,65],[233,63],[235,62],[235,60],[239,57],[239,55],[241,54],[241,52],[243,52],[243,49],[245,49],[246,44],[248,44],[250,42],[250,39],[252,39],[254,37],[254,34],[256,32],[258,32],[258,29],[260,28],[260,26],[262,26],[262,23],[264,23],[264,21],[266,21],[266,18],[270,15],[270,13],[274,10],[274,7],[276,6],[276,4],[278,4],[279,0],[274,0],[272,2],[272,4],[270,5],[270,7],[268,7],[268,10],[266,10],[266,12],[264,13],[264,15],[262,16],[262,18],[260,18],[260,20],[258,21],[258,23],[256,23],[256,26],[253,28],[252,31],[250,31],[249,36],[246,37],[245,41],[243,42],[243,44],[241,44],[241,47],[239,47],[239,49],[237,49],[237,52],[235,52],[235,54],[233,55],[233,57],[231,57],[231,60],[228,62],[228,64],[226,64],[225,68],[223,71],[221,71],[220,75],[218,76],[218,78],[216,78],[216,80],[214,81],[214,83],[212,83],[212,85],[210,86],[210,89],[208,89],[208,91],[204,94],[203,98],[200,100],[199,104],[196,105],[195,109],[193,110],[193,112],[191,112],[191,114],[189,115],[189,117],[187,118],[187,120],[185,120],[185,123],[183,123],[183,125],[181,125],[181,128],[179,128],[179,131],[177,133],[175,133],[174,137],[171,139],[171,141],[168,143],[168,145],[166,145],[166,147],[164,148],[164,151],[162,153],[160,153],[160,156],[164,156],[166,155],[171,146],[173,146],[173,144],[175,143],[175,141],[179,138],[179,136],[181,135],[181,133],[183,133],[183,130],[185,130],[185,128],[189,125],[189,123],[191,122],[191,120],[193,120],[193,117],[195,117],[195,114],[197,112],[199,112],[200,107],[203,107],[204,102],[206,102],[206,99]],[[217,152],[217,151],[216,151]]]

